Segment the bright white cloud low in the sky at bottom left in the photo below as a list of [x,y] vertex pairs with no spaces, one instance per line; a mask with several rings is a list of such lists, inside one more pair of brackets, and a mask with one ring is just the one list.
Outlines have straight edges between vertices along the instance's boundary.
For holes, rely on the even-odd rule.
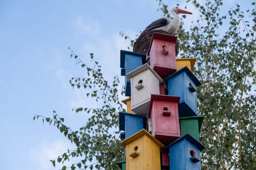
[[[29,150],[30,159],[38,165],[37,170],[55,170],[50,160],[57,158],[70,147],[68,142],[42,141],[35,148]],[[56,169],[60,169],[62,164],[56,163]]]

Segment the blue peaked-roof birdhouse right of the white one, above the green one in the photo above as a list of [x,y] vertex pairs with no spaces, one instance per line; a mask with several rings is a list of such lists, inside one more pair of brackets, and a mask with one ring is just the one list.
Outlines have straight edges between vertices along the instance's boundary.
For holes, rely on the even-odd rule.
[[187,68],[181,68],[164,79],[168,85],[168,95],[180,96],[179,117],[197,116],[197,86],[201,83]]

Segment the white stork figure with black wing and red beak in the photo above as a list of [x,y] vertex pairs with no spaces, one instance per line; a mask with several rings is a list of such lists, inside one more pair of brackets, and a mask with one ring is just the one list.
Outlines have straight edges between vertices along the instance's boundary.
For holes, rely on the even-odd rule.
[[174,7],[171,9],[171,14],[173,18],[163,17],[158,20],[155,20],[149,26],[147,26],[147,28],[143,32],[149,31],[149,30],[163,30],[168,32],[171,35],[174,35],[177,33],[180,25],[180,19],[178,17],[178,14],[192,14],[192,13],[179,9],[178,7]]

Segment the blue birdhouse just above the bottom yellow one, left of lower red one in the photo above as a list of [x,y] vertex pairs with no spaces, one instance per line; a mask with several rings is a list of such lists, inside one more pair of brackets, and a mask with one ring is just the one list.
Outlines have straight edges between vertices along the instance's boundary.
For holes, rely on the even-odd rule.
[[147,117],[119,112],[119,130],[125,131],[125,139],[134,135],[143,128],[147,128]]

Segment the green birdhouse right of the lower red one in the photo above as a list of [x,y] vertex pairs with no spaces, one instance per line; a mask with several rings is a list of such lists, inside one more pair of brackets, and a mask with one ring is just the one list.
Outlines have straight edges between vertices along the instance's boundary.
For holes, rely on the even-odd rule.
[[199,132],[203,123],[203,116],[179,118],[181,136],[189,133],[199,141]]

